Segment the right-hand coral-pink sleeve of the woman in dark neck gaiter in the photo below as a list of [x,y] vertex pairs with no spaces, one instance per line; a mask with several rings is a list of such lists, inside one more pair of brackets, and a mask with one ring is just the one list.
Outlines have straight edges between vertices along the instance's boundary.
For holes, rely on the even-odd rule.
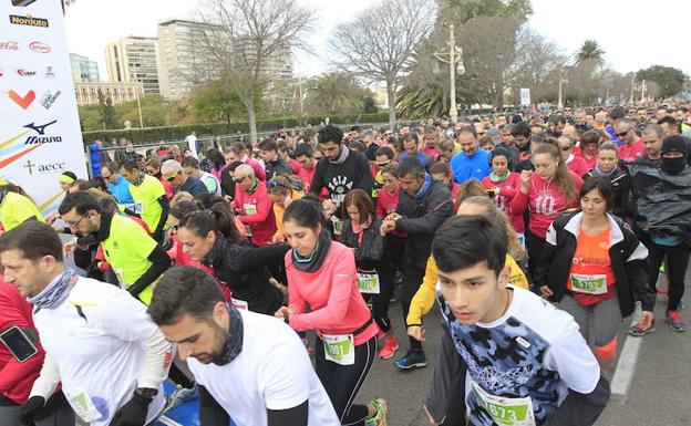
[[[340,323],[348,312],[350,292],[355,280],[355,259],[351,250],[342,251],[333,259],[330,279],[331,292],[327,305],[309,313],[290,315],[290,326],[297,331],[324,329]],[[288,290],[290,294],[290,290]]]

